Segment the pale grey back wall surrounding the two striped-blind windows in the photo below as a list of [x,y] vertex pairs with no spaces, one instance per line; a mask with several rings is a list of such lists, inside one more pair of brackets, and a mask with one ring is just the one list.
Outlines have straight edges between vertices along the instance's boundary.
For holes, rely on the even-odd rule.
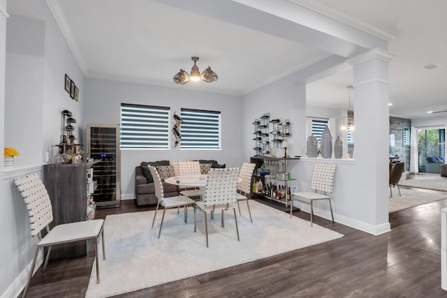
[[84,94],[83,128],[87,123],[119,124],[121,103],[170,107],[171,115],[174,112],[179,115],[182,107],[221,112],[221,150],[188,151],[180,150],[179,146],[170,150],[122,150],[122,196],[125,199],[135,198],[135,166],[142,161],[214,159],[226,163],[227,167],[240,167],[243,161],[248,161],[242,159],[240,150],[242,104],[238,97],[96,79],[85,80]]

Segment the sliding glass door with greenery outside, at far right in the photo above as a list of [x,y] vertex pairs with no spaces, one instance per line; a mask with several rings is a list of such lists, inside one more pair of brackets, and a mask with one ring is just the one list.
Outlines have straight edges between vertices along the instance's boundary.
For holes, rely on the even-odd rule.
[[418,129],[419,172],[439,174],[446,156],[446,129]]

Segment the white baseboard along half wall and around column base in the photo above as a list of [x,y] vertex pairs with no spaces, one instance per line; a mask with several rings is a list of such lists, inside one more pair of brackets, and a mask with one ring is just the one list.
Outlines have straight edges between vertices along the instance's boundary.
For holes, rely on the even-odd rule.
[[[293,206],[300,208],[302,211],[310,213],[310,205],[309,204],[303,204],[298,201],[294,201]],[[332,221],[332,216],[330,216],[330,211],[326,211],[326,210],[314,207],[314,215],[320,216],[320,217],[328,219],[329,221]],[[337,223],[341,223],[342,225],[347,225],[347,226],[354,228],[356,230],[367,232],[367,233],[373,234],[373,235],[383,234],[386,232],[390,232],[390,230],[391,230],[390,223],[383,223],[381,225],[370,225],[369,223],[357,221],[356,219],[347,218],[346,216],[341,216],[341,215],[335,214],[335,213],[334,213],[334,221]]]

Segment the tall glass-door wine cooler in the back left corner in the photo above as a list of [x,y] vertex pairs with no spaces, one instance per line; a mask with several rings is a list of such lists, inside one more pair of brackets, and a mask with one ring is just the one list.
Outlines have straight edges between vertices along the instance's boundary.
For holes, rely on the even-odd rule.
[[87,156],[94,161],[92,197],[98,208],[119,207],[121,202],[121,154],[119,124],[87,124]]

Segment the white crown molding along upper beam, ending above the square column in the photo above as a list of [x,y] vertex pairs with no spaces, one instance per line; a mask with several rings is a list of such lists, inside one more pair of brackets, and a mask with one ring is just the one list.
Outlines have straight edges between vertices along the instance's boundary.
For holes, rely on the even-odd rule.
[[326,17],[330,17],[334,20],[347,24],[351,27],[369,33],[377,38],[381,38],[386,41],[390,41],[395,39],[395,36],[387,31],[386,29],[382,29],[374,26],[373,24],[369,24],[367,22],[363,22],[362,20],[356,19],[356,17],[352,17],[351,15],[346,15],[346,13],[342,13],[339,10],[335,10],[330,8],[329,6],[324,5],[323,3],[317,3],[316,1],[309,0],[288,0],[291,3],[295,3],[299,6],[308,8],[310,10],[314,10],[316,13],[320,13],[321,15],[325,15]]

